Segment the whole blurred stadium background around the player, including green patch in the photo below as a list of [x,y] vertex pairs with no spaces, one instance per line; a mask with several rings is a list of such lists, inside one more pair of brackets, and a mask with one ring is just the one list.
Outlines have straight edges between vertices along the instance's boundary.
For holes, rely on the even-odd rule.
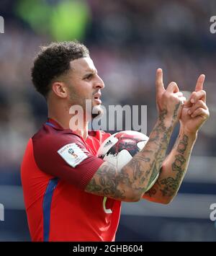
[[0,241],[30,241],[19,165],[47,115],[30,81],[32,58],[39,45],[74,38],[90,48],[104,79],[103,105],[148,105],[148,134],[157,116],[156,69],[163,69],[165,84],[176,81],[184,91],[206,74],[211,116],[179,194],[168,206],[123,203],[117,241],[216,241],[210,220],[216,203],[216,34],[210,17],[216,2],[1,0],[0,15]]

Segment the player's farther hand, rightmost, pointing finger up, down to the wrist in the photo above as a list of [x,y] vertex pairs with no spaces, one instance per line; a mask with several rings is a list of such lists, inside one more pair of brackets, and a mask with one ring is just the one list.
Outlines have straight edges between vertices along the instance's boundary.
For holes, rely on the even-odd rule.
[[210,111],[206,105],[206,92],[203,90],[204,74],[197,79],[194,92],[184,102],[180,123],[184,131],[197,133],[202,124],[209,118]]

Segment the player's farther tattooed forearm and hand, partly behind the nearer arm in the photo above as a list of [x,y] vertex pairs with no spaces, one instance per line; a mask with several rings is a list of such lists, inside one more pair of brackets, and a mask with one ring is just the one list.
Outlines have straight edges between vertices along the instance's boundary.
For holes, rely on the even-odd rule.
[[156,184],[143,195],[143,198],[158,203],[169,203],[178,192],[197,138],[197,131],[210,115],[203,83],[204,75],[201,75],[191,97],[184,103],[180,133],[174,149],[163,162]]

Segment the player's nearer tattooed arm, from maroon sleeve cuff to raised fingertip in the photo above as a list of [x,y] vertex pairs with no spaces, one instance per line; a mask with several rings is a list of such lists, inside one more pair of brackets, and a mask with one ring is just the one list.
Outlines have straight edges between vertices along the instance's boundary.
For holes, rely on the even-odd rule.
[[125,201],[142,198],[146,187],[161,169],[185,100],[176,83],[171,82],[164,89],[161,69],[157,71],[156,87],[159,118],[145,148],[120,170],[104,162],[86,186],[86,192]]

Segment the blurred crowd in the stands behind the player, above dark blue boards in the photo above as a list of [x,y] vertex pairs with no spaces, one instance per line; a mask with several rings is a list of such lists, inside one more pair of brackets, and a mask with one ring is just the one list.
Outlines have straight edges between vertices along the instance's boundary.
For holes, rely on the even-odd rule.
[[[35,30],[17,12],[20,2],[1,0],[0,6],[5,22],[0,34],[0,172],[16,174],[27,140],[47,118],[45,100],[30,79],[32,60],[40,45],[56,40],[53,34]],[[41,0],[54,9],[59,3]],[[163,69],[164,84],[176,81],[189,92],[199,74],[205,74],[211,117],[193,154],[215,156],[216,34],[210,32],[210,17],[216,15],[216,2],[86,0],[82,4],[89,18],[77,39],[90,49],[104,79],[103,105],[147,105],[149,134],[157,118],[156,69]]]

